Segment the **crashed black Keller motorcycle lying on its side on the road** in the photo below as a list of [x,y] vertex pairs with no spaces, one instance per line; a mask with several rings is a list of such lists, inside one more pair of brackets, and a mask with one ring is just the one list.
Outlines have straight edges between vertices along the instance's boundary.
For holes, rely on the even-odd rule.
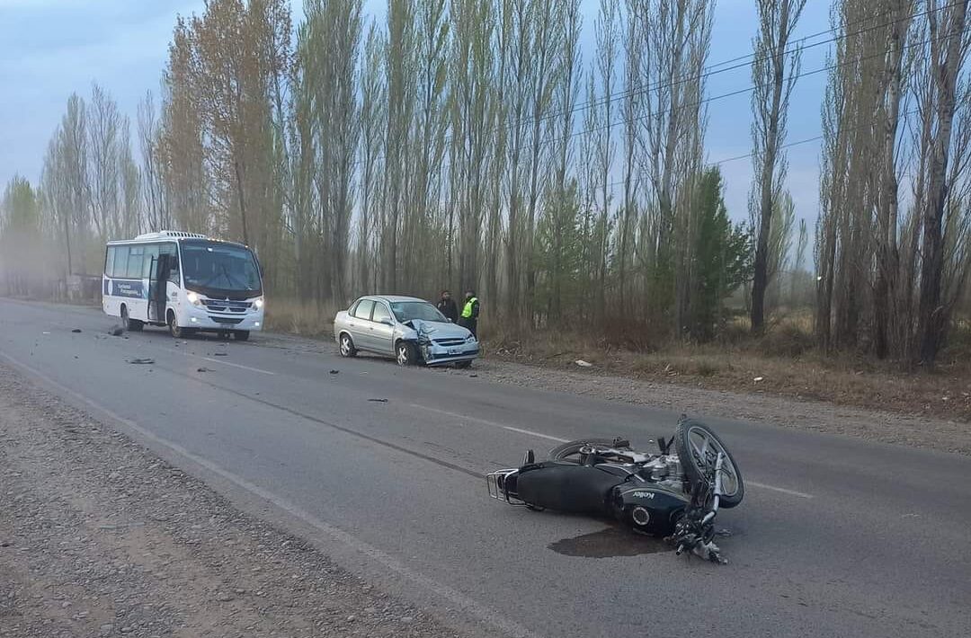
[[657,447],[645,453],[623,439],[588,438],[553,448],[542,461],[530,450],[519,468],[488,473],[485,486],[511,505],[616,519],[664,537],[679,555],[727,562],[715,544],[723,533],[715,517],[745,495],[731,453],[710,427],[686,417]]

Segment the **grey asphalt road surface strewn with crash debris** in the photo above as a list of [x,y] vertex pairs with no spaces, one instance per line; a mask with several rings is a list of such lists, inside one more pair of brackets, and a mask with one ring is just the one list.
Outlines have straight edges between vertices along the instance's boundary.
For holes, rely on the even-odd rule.
[[472,633],[971,635],[971,458],[708,420],[748,487],[716,566],[485,494],[526,448],[646,443],[676,414],[112,323],[0,300],[0,362]]

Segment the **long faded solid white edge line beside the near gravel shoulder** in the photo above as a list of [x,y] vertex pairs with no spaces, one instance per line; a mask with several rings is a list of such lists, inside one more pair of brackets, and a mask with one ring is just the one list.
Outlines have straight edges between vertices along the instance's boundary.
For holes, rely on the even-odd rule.
[[[432,579],[431,577],[425,576],[424,574],[411,569],[410,567],[400,562],[397,558],[395,558],[391,554],[386,554],[383,550],[378,549],[377,547],[367,543],[366,541],[362,541],[361,539],[344,531],[340,527],[336,527],[334,525],[331,525],[328,522],[325,522],[324,520],[318,519],[310,512],[307,512],[306,510],[300,508],[294,503],[291,503],[285,498],[278,496],[277,494],[270,491],[269,489],[266,489],[264,487],[259,487],[251,483],[250,481],[244,479],[243,477],[237,474],[234,474],[233,472],[230,472],[229,470],[221,467],[220,465],[209,460],[208,458],[200,456],[196,453],[191,453],[188,450],[186,450],[184,447],[180,446],[179,444],[169,441],[168,439],[164,439],[158,436],[157,434],[154,434],[153,432],[142,427],[135,421],[125,419],[124,417],[117,415],[115,412],[87,398],[83,394],[76,392],[66,386],[62,386],[61,384],[58,384],[56,381],[54,381],[44,373],[40,372],[39,370],[36,370],[35,368],[32,368],[29,365],[26,365],[25,363],[22,363],[21,361],[17,360],[16,358],[14,358],[13,356],[7,353],[0,353],[0,356],[7,359],[8,361],[13,363],[20,369],[27,370],[35,377],[42,380],[48,386],[54,387],[59,392],[63,392],[64,394],[67,394],[73,397],[75,400],[80,401],[85,405],[90,406],[91,408],[107,415],[111,419],[117,420],[118,422],[123,423],[126,427],[132,429],[135,432],[138,432],[139,435],[145,437],[146,439],[149,439],[150,441],[158,445],[168,448],[173,453],[179,456],[183,456],[184,458],[191,460],[192,462],[206,468],[210,472],[217,474],[218,476],[222,477],[226,481],[229,481],[235,486],[241,487],[249,491],[251,494],[254,494],[266,501],[269,501],[270,503],[273,503],[281,510],[284,510],[290,516],[303,520],[307,524],[310,524],[316,529],[318,529],[320,532],[326,534],[327,536],[330,536],[331,539],[333,539],[334,541],[342,543],[347,547],[351,548],[352,550],[368,556],[372,560],[375,560],[378,563],[380,563],[386,569],[395,572],[399,576],[407,580],[410,580],[413,583],[418,584],[422,588],[426,588],[427,590],[434,592],[436,595],[444,598],[445,600],[449,601],[456,607],[465,610],[467,613],[471,614],[472,616],[478,618],[481,621],[484,621],[487,624],[492,625],[493,627],[501,630],[503,633],[511,636],[522,636],[524,638],[538,638],[537,634],[525,628],[524,626],[519,624],[519,622],[506,618],[504,614],[499,613],[477,602],[476,600],[461,593],[457,589],[453,589],[445,584],[439,583],[438,581]],[[221,361],[219,361],[219,363],[221,363]]]

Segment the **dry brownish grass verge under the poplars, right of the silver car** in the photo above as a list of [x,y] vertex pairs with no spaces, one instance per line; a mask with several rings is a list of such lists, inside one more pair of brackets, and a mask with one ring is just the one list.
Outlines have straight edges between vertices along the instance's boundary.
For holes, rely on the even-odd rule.
[[[491,334],[491,356],[573,370],[593,370],[658,383],[766,392],[837,405],[971,422],[971,330],[958,330],[934,373],[905,373],[899,364],[815,349],[803,319],[778,321],[754,339],[729,330],[718,344],[668,344],[632,351],[577,333]],[[581,368],[583,359],[594,365]]]

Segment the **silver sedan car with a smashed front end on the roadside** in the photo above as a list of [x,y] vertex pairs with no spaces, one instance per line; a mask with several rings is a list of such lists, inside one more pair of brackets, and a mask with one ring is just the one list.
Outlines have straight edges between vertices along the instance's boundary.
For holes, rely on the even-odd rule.
[[424,299],[391,295],[361,297],[334,318],[334,339],[342,356],[358,351],[393,357],[398,365],[467,368],[479,356],[479,342]]

